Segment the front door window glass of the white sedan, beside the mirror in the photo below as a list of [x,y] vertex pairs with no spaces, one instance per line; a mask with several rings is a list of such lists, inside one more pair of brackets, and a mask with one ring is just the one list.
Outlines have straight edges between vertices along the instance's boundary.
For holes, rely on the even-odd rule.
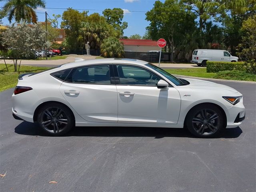
[[120,84],[138,86],[156,86],[160,78],[137,66],[116,65]]

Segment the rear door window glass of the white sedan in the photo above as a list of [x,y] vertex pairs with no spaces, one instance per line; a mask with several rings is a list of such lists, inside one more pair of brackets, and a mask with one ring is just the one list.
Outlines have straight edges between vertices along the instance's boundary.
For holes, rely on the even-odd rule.
[[74,68],[66,79],[73,83],[111,84],[109,65],[83,66]]

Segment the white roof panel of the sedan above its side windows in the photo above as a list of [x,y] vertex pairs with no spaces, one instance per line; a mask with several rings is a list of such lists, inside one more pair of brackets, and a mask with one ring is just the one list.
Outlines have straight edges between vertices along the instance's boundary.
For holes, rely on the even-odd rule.
[[[79,60],[79,58],[78,58]],[[63,64],[65,68],[92,65],[92,64],[136,64],[136,65],[145,65],[148,62],[136,59],[127,59],[127,58],[104,58],[104,59],[90,59],[82,60],[72,63]]]

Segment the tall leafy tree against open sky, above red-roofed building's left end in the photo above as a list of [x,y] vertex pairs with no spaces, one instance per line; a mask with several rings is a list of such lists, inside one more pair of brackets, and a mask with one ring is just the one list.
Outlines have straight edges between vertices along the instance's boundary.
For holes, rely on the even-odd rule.
[[102,12],[108,24],[112,25],[115,30],[120,31],[120,38],[124,34],[124,30],[128,27],[127,22],[122,22],[124,11],[121,8],[105,9]]

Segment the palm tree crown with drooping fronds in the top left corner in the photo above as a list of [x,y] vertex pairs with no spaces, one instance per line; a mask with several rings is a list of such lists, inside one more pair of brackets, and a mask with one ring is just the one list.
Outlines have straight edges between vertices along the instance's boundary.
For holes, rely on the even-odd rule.
[[35,9],[45,8],[44,0],[0,0],[6,1],[3,11],[8,14],[8,21],[36,23],[37,15]]

